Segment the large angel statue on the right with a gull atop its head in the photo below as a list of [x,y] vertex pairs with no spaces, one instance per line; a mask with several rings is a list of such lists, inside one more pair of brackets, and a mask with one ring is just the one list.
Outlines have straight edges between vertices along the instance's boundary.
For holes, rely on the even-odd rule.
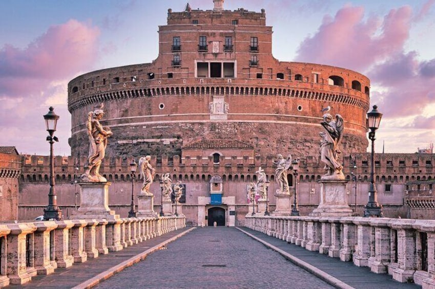
[[325,163],[326,174],[322,179],[344,180],[342,172],[343,166],[340,164],[340,144],[343,138],[343,118],[341,115],[335,115],[336,120],[330,114],[323,115],[323,121],[320,123],[324,131],[319,132],[322,137],[320,142],[321,160]]

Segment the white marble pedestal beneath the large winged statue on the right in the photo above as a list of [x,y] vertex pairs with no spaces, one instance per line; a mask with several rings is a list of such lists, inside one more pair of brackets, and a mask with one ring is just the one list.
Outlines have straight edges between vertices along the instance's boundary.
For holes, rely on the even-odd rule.
[[353,214],[347,205],[346,180],[320,180],[320,204],[310,216],[347,217]]

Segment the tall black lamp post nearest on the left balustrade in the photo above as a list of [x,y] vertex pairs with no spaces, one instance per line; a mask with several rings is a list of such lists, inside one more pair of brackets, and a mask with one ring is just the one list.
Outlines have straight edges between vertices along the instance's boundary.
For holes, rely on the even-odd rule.
[[54,190],[54,155],[53,155],[53,143],[58,142],[57,137],[54,136],[56,131],[57,120],[59,116],[54,113],[53,106],[50,106],[49,112],[44,116],[45,125],[48,133],[47,141],[50,143],[50,192],[48,193],[48,206],[44,209],[44,220],[62,219],[62,210],[57,206],[57,195]]

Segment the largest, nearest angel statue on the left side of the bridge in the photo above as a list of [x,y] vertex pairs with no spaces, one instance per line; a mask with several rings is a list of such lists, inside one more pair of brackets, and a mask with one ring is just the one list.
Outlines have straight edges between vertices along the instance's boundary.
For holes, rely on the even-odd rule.
[[109,127],[103,127],[100,120],[104,115],[103,104],[95,107],[93,112],[88,113],[86,128],[89,138],[89,155],[85,163],[85,173],[81,175],[84,182],[107,182],[106,178],[99,174],[102,159],[104,159],[107,138],[113,135]]

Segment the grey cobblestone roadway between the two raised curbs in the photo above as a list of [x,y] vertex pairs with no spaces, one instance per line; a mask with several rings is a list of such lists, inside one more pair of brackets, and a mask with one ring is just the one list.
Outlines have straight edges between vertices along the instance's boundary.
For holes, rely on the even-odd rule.
[[96,288],[334,288],[234,228],[205,227]]

